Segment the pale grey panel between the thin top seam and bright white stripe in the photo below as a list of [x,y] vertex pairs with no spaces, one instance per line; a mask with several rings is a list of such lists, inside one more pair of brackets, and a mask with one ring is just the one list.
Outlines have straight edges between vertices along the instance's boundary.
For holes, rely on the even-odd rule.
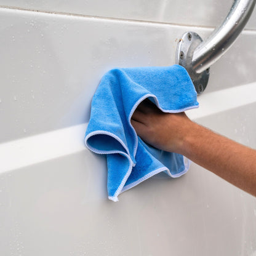
[[[90,100],[106,71],[173,65],[177,39],[191,29],[10,9],[0,13],[1,142],[87,122]],[[194,30],[203,38],[212,31]],[[212,66],[205,93],[256,80],[255,35],[242,34]]]

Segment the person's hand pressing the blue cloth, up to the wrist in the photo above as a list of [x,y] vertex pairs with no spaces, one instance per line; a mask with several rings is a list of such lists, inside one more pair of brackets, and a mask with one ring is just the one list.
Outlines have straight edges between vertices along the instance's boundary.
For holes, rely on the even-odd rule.
[[182,153],[183,140],[194,124],[184,112],[163,113],[150,100],[144,100],[138,105],[131,123],[146,143],[175,153]]

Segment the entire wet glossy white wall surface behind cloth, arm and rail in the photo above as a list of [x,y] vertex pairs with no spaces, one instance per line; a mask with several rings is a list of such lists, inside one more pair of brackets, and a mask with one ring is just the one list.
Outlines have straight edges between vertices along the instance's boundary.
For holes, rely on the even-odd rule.
[[[178,38],[206,38],[232,2],[0,0],[1,255],[254,255],[254,197],[193,164],[114,203],[83,145],[106,71],[173,65]],[[253,148],[255,13],[188,111]]]

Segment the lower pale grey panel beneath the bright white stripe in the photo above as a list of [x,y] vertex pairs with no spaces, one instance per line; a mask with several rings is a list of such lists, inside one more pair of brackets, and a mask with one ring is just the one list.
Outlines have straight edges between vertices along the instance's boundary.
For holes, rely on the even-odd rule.
[[[236,127],[236,138],[256,146],[255,106],[197,121],[232,137]],[[239,129],[242,123],[251,132]],[[181,178],[156,175],[117,203],[107,199],[105,158],[88,150],[6,172],[0,187],[1,255],[251,256],[256,250],[256,199],[195,164]]]

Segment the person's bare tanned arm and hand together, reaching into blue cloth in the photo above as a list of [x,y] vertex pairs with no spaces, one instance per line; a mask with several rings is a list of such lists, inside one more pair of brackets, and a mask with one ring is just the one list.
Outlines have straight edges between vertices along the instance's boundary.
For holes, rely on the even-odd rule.
[[149,100],[138,106],[131,122],[138,136],[150,145],[183,154],[256,196],[256,150],[215,134],[185,113],[163,113]]

